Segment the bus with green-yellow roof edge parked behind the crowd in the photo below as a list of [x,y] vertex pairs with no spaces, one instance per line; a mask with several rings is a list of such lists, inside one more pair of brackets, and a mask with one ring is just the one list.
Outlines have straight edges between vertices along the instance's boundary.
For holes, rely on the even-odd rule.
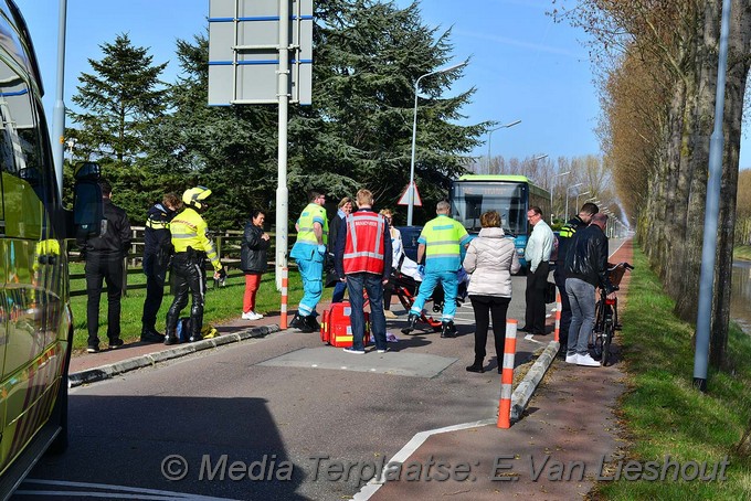
[[537,205],[542,216],[550,214],[550,192],[523,175],[465,174],[452,181],[448,191],[452,216],[462,223],[469,234],[480,230],[479,216],[486,211],[500,214],[506,235],[514,238],[517,255],[525,262],[525,247],[532,228],[527,211]]

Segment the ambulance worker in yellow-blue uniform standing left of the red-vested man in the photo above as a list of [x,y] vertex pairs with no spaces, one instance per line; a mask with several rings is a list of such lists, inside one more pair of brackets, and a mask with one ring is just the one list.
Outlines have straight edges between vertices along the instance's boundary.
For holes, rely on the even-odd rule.
[[317,191],[310,192],[308,203],[297,220],[297,241],[292,247],[289,257],[297,262],[303,278],[303,299],[297,307],[295,318],[289,327],[303,332],[320,329],[316,321],[316,306],[324,291],[324,260],[328,242],[328,217],[326,217],[326,195]]

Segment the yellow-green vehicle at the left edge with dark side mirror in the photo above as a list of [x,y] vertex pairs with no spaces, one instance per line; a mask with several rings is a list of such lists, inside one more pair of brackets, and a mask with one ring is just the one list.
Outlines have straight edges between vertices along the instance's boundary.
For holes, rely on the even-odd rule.
[[[74,226],[60,198],[42,94],[27,24],[12,0],[0,0],[1,499],[45,450],[67,445],[73,321],[64,238]],[[98,217],[96,199],[89,202]]]

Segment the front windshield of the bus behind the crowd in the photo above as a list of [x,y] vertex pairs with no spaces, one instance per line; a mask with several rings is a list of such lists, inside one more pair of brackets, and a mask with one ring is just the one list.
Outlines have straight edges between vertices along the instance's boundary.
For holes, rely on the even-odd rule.
[[521,182],[455,181],[451,190],[452,215],[467,232],[478,233],[479,216],[497,211],[507,235],[526,235],[527,190],[527,183]]

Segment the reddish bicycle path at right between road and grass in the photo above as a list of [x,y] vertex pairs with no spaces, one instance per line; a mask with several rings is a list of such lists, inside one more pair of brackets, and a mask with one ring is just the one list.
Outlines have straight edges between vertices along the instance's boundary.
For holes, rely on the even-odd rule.
[[[632,262],[632,241],[610,260]],[[618,292],[621,308],[626,307],[628,281],[626,274]],[[521,419],[509,429],[498,428],[489,416],[466,429],[433,434],[403,451],[401,469],[384,468],[387,478],[394,480],[368,484],[355,499],[585,497],[597,477],[613,476],[607,462],[620,458],[624,445],[615,414],[626,390],[617,334],[613,351],[614,363],[606,367],[582,367],[556,359]]]

